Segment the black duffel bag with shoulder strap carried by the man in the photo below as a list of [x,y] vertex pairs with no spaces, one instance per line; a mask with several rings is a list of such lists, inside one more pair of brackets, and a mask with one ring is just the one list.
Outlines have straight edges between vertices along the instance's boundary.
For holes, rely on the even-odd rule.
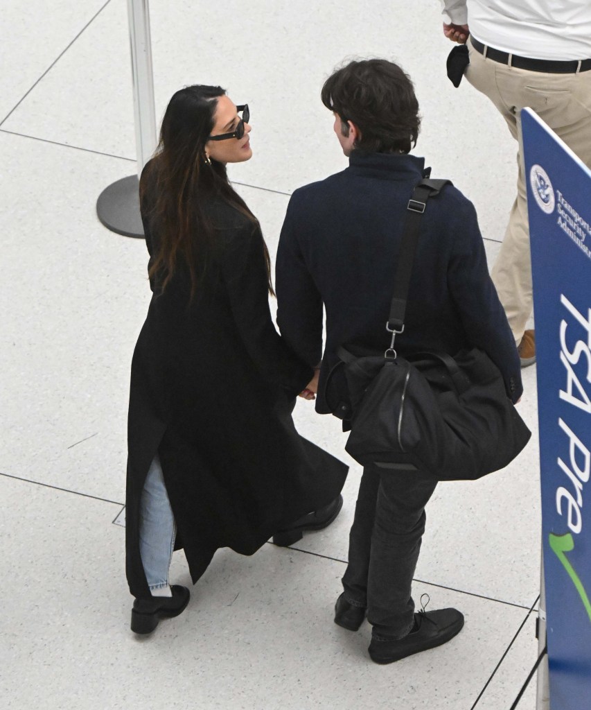
[[478,479],[507,466],[531,432],[507,397],[499,368],[480,349],[397,355],[407,293],[430,195],[448,180],[421,180],[409,200],[398,255],[385,354],[338,350],[326,378],[328,408],[350,429],[346,451],[363,466],[414,471],[440,481]]

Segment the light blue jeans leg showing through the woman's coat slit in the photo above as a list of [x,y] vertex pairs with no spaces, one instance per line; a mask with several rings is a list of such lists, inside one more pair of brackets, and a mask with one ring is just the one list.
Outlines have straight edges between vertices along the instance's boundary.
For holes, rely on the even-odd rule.
[[140,556],[150,591],[168,586],[177,525],[168,500],[162,466],[155,455],[140,500]]

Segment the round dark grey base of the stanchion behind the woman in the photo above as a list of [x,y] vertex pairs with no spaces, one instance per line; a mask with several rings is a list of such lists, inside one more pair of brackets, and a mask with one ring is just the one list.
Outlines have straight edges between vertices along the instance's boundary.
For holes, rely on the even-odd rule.
[[106,187],[96,200],[96,214],[116,234],[143,239],[138,176],[129,175]]

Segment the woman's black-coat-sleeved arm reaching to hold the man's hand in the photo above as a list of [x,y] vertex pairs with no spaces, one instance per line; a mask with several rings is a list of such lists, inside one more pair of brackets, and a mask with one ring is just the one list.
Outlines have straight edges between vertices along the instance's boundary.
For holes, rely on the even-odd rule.
[[314,370],[289,349],[273,325],[263,235],[248,222],[228,235],[221,271],[236,330],[263,381],[295,396],[313,380]]

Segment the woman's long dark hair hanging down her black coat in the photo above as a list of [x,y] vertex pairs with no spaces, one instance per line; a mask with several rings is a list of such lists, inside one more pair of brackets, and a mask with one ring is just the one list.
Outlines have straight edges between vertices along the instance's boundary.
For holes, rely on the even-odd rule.
[[[180,257],[189,270],[191,299],[214,249],[216,224],[207,217],[204,201],[221,197],[247,217],[253,229],[258,226],[254,214],[228,182],[226,165],[206,161],[205,144],[214,128],[217,99],[224,94],[221,87],[201,84],[173,94],[162,119],[158,148],[140,182],[143,209],[155,217],[159,226],[160,239],[150,260],[150,278],[158,274],[163,291],[175,274]],[[268,288],[275,295],[264,242],[263,249]]]

